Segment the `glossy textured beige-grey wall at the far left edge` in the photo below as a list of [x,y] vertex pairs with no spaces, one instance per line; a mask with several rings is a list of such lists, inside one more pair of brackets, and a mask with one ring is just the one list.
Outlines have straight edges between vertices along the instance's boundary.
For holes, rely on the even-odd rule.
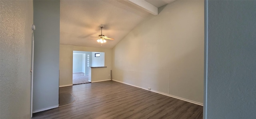
[[30,118],[33,1],[0,1],[0,118]]

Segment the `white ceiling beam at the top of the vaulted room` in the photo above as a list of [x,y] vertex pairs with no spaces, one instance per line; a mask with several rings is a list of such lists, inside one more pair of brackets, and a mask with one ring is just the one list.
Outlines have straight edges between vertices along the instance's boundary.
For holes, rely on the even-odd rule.
[[143,10],[146,10],[147,12],[153,15],[158,15],[158,8],[146,2],[145,0],[127,0],[127,2],[135,4],[136,6],[139,6]]

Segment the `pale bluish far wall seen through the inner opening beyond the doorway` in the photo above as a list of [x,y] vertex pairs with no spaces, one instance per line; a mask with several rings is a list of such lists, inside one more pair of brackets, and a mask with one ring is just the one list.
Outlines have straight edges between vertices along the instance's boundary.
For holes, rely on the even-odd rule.
[[83,54],[73,54],[73,73],[83,72]]

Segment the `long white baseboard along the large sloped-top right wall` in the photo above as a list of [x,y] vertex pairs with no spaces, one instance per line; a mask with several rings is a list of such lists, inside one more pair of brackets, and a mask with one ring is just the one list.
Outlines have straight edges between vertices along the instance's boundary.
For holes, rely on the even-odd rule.
[[[120,82],[120,81],[118,81],[118,80],[113,80],[113,81]],[[120,83],[127,84],[127,83],[124,83],[124,82],[120,82]],[[132,84],[127,84],[127,85],[134,86],[134,85],[132,85]],[[144,89],[144,90],[148,90],[147,88],[142,88],[142,87],[139,87],[139,86],[134,86],[134,87],[141,88],[141,89]],[[196,104],[196,105],[201,105],[201,106],[203,106],[203,103],[199,103],[199,102],[192,101],[192,100],[189,100],[189,99],[180,98],[180,97],[178,97],[178,96],[173,96],[173,95],[170,95],[170,94],[158,92],[158,91],[156,91],[156,90],[148,90],[148,91],[155,92],[155,93],[158,93],[158,94],[162,94],[162,95],[165,95],[165,96],[169,96],[169,97],[172,97],[172,98],[180,99],[180,100],[183,100],[183,101],[187,101],[187,102],[190,102],[190,103],[194,103],[194,104]]]

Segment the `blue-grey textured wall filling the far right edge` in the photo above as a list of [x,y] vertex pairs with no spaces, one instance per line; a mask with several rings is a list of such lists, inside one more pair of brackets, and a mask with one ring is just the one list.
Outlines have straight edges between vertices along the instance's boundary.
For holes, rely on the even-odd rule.
[[206,5],[204,118],[255,119],[256,1],[209,0]]

